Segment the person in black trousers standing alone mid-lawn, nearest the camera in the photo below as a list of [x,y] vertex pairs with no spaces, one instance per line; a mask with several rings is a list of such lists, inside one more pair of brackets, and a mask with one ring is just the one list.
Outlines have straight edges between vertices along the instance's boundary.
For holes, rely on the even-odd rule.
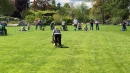
[[61,45],[61,32],[60,30],[55,27],[55,29],[52,32],[52,40],[55,40],[55,46],[59,46],[60,48],[62,47]]

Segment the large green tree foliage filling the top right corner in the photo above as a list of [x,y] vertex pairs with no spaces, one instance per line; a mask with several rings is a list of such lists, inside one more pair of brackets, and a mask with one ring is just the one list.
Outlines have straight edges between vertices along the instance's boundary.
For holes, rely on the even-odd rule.
[[101,15],[103,22],[105,19],[119,19],[119,17],[124,20],[129,16],[129,0],[93,0],[92,3],[93,7],[90,13]]

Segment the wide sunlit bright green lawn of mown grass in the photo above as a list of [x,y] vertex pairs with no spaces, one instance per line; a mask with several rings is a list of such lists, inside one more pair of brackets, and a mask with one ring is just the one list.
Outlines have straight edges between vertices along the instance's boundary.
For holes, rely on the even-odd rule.
[[129,73],[130,27],[100,25],[100,30],[61,31],[62,44],[51,43],[52,31],[18,31],[0,36],[0,73]]

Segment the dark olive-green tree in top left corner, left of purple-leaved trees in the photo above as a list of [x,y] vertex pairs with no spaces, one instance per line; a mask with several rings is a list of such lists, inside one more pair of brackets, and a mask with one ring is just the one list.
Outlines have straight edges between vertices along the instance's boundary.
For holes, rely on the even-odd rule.
[[10,0],[0,0],[0,13],[11,15],[14,10],[14,4]]

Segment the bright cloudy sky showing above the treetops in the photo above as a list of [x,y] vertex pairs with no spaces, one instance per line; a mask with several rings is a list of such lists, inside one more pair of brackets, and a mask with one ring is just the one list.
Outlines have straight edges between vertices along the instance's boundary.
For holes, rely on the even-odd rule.
[[[34,0],[30,0],[30,1],[34,1]],[[81,4],[82,2],[85,2],[86,0],[55,0],[56,4],[60,3],[61,6],[63,6],[65,3],[73,3],[74,6],[77,6],[79,4]],[[87,4],[87,6],[89,8],[92,7],[91,2],[85,2]]]

